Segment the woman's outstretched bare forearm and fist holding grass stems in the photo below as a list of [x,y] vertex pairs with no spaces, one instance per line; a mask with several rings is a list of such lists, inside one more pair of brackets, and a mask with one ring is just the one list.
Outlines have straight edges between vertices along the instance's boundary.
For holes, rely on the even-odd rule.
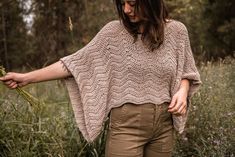
[[58,61],[45,68],[28,73],[9,72],[5,76],[0,77],[0,81],[3,81],[6,86],[13,89],[30,83],[55,80],[68,76],[71,76],[70,72],[61,61]]

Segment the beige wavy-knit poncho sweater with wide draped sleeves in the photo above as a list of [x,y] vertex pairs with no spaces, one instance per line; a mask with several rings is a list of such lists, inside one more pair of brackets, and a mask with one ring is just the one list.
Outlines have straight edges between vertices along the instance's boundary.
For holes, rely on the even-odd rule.
[[[191,80],[191,97],[201,83],[187,29],[174,20],[166,24],[163,45],[154,52],[140,36],[134,42],[119,21],[112,21],[61,61],[72,73],[66,85],[78,128],[88,142],[99,135],[112,108],[127,102],[170,102],[183,78]],[[177,131],[183,131],[186,119],[187,114],[173,116]]]

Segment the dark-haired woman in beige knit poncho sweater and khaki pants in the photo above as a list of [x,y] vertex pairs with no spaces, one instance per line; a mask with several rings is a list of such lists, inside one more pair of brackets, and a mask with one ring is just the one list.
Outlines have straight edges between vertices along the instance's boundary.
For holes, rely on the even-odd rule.
[[168,19],[163,0],[114,0],[112,21],[84,48],[25,74],[0,78],[9,88],[66,78],[76,122],[92,142],[110,117],[107,157],[168,157],[173,126],[182,132],[187,100],[200,76],[186,27]]

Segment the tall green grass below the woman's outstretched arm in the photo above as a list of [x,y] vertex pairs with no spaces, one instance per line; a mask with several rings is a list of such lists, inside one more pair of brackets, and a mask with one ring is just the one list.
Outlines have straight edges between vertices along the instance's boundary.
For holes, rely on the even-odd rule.
[[92,144],[82,138],[61,82],[40,83],[25,90],[44,103],[35,110],[18,93],[0,85],[1,157],[104,154],[105,132]]

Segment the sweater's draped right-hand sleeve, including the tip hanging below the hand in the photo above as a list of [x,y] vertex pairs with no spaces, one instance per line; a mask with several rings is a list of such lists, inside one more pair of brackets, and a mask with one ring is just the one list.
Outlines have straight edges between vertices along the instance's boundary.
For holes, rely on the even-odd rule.
[[[175,29],[177,30],[176,40],[178,42],[177,48],[177,73],[175,77],[175,84],[172,87],[172,96],[179,90],[181,80],[188,79],[190,87],[188,92],[188,106],[193,94],[199,89],[201,84],[200,74],[195,64],[193,53],[190,46],[187,28],[183,23],[177,22]],[[173,125],[176,131],[182,133],[188,119],[189,107],[185,115],[177,116],[172,115]]]

